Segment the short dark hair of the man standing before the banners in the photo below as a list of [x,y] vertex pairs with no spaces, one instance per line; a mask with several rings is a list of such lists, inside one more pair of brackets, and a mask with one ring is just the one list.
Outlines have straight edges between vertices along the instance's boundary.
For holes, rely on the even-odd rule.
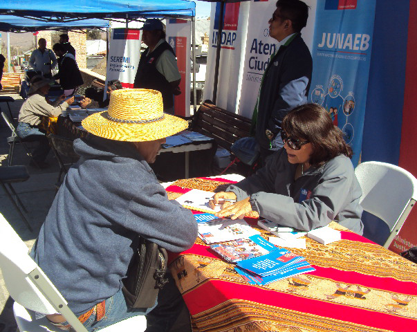
[[277,8],[283,19],[289,19],[293,23],[293,30],[299,33],[307,25],[308,7],[300,0],[278,0]]

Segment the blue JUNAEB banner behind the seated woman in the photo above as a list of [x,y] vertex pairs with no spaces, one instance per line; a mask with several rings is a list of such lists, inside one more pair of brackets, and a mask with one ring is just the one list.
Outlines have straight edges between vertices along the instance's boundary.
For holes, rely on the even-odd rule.
[[309,100],[321,104],[358,165],[367,103],[376,0],[318,0]]

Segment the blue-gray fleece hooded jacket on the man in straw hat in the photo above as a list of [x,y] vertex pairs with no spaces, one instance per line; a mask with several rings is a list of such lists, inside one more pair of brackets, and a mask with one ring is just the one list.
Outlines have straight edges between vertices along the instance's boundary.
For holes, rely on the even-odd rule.
[[32,255],[75,315],[121,288],[137,235],[172,252],[190,248],[197,223],[169,201],[129,142],[77,139],[71,167],[42,225]]

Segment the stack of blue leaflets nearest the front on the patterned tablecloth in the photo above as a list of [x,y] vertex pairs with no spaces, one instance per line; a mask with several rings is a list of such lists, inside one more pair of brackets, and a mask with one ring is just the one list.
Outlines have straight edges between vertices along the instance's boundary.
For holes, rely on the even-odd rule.
[[315,269],[304,257],[297,256],[284,248],[277,248],[269,254],[238,261],[234,270],[249,284],[266,285]]

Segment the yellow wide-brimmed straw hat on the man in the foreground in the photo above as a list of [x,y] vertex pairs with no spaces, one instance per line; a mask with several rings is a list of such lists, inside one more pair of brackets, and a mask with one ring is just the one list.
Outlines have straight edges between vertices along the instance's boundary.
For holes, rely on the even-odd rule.
[[125,89],[113,91],[108,111],[85,118],[82,127],[109,140],[145,142],[183,131],[188,122],[163,112],[159,91]]

